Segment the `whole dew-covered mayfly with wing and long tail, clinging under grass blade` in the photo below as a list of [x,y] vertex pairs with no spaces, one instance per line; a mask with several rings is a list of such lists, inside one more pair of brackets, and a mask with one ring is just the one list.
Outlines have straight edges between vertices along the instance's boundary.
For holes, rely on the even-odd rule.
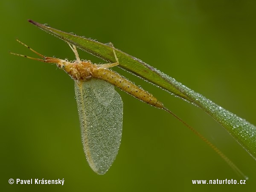
[[[20,44],[23,44],[19,40],[17,41]],[[165,108],[154,96],[136,86],[128,79],[120,76],[118,73],[109,70],[108,68],[119,64],[113,45],[111,46],[113,47],[113,55],[116,62],[109,64],[93,64],[90,61],[81,60],[76,47],[71,44],[69,44],[69,46],[76,56],[75,61],[46,57],[27,45],[23,45],[42,59],[11,53],[45,63],[55,63],[57,64],[57,67],[64,70],[72,79],[74,79],[84,153],[90,167],[97,174],[102,175],[108,171],[116,158],[121,141],[122,99],[114,90],[114,86],[116,86],[137,99],[153,105],[156,108],[164,109],[175,116],[175,118],[216,151],[238,174],[244,176],[236,165],[216,148],[215,145],[210,143],[194,128],[169,111],[169,109]]]

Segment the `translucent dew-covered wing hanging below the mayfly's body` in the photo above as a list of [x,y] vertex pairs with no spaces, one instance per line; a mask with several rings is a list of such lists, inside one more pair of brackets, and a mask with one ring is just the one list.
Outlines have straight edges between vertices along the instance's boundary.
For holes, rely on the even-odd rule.
[[122,136],[122,99],[100,79],[75,81],[82,143],[90,167],[105,174],[116,158]]

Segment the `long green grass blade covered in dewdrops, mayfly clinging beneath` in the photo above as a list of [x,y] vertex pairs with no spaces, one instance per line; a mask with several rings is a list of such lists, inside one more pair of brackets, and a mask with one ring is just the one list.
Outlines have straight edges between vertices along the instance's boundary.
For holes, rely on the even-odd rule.
[[[72,35],[67,32],[51,28],[47,25],[36,23],[29,20],[30,23],[38,26],[39,28],[61,38],[62,40],[79,47],[80,49],[96,55],[108,62],[115,62],[113,55],[113,47],[108,44],[92,41],[77,35]],[[226,130],[240,143],[246,151],[256,159],[256,127],[244,119],[236,116],[233,113],[221,108],[199,93],[177,82],[175,79],[167,76],[159,70],[151,67],[143,61],[134,58],[125,52],[115,49],[116,55],[119,59],[119,67],[134,73],[141,78],[152,82],[153,84],[175,94],[189,102],[194,103],[202,108],[217,122],[219,122]]]

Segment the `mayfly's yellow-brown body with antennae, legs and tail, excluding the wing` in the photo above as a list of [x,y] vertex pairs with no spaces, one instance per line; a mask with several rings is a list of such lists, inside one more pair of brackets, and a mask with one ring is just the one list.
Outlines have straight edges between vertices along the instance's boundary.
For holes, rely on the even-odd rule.
[[[17,40],[20,44],[23,44],[19,40]],[[192,130],[198,137],[200,137],[204,142],[206,142],[214,151],[216,151],[229,165],[231,168],[233,168],[236,172],[238,172],[240,175],[242,175],[246,180],[248,177],[246,177],[237,167],[236,165],[228,158],[226,157],[215,145],[210,143],[205,137],[203,137],[200,133],[198,133],[194,128],[186,124],[182,119],[180,119],[177,115],[169,111],[169,109],[165,108],[163,104],[155,97],[153,97],[150,93],[147,91],[141,89],[140,87],[137,87],[135,84],[133,84],[131,81],[128,81],[127,79],[123,78],[119,74],[108,70],[107,68],[113,67],[119,64],[118,58],[116,57],[116,53],[113,49],[113,54],[116,58],[116,63],[113,64],[102,64],[102,65],[97,65],[97,64],[92,64],[90,62],[85,62],[85,61],[80,61],[78,52],[76,51],[75,46],[71,46],[70,48],[73,50],[73,52],[76,55],[76,61],[75,62],[69,62],[67,60],[62,60],[58,58],[53,58],[53,57],[45,57],[41,55],[40,53],[36,52],[35,50],[31,49],[27,45],[23,44],[25,47],[30,49],[32,52],[35,52],[37,55],[39,55],[43,59],[39,58],[32,58],[26,55],[20,55],[17,53],[12,53],[13,55],[18,55],[26,58],[30,58],[33,60],[37,61],[42,61],[45,63],[55,63],[57,66],[63,70],[65,70],[75,81],[82,82],[82,81],[88,81],[91,78],[96,78],[96,79],[102,79],[104,81],[107,81],[116,87],[119,87],[121,90],[124,90],[125,92],[135,96],[136,98],[153,105],[157,108],[162,108],[165,111],[169,112],[173,116],[175,116],[180,122],[182,122],[184,125],[186,125],[187,128]],[[82,91],[81,91],[82,92]],[[122,102],[122,101],[121,101]],[[120,102],[119,102],[120,104]]]

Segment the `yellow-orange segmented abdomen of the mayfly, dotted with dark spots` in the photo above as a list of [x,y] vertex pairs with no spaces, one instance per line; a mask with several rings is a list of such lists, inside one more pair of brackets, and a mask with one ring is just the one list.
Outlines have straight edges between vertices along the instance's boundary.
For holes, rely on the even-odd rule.
[[163,104],[157,99],[152,96],[147,91],[139,88],[131,81],[123,78],[119,74],[108,70],[108,69],[93,69],[92,76],[97,79],[102,79],[104,81],[108,81],[109,83],[119,87],[120,89],[124,90],[126,93],[131,94],[132,96],[136,97],[137,99],[142,100],[150,105],[153,105],[157,108],[163,108]]

